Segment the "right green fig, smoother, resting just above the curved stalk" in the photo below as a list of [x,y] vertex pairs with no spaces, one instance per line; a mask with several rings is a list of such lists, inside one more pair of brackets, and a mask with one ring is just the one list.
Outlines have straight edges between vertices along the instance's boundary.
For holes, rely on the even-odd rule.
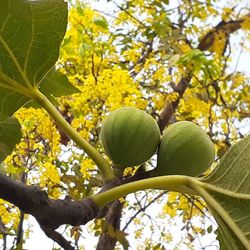
[[198,176],[211,166],[214,157],[214,145],[199,126],[177,122],[162,136],[154,174]]

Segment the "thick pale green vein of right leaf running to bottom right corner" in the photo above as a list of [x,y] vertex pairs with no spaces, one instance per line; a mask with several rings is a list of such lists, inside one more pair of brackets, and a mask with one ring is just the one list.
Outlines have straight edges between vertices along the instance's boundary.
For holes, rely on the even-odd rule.
[[235,233],[241,243],[246,247],[246,249],[250,250],[249,240],[242,233],[238,225],[233,221],[232,217],[227,213],[227,211],[199,184],[199,181],[190,182],[189,186],[196,190],[202,198],[206,201],[206,203],[212,208],[211,210],[215,210],[218,215],[223,219],[223,221],[229,226],[229,228]]

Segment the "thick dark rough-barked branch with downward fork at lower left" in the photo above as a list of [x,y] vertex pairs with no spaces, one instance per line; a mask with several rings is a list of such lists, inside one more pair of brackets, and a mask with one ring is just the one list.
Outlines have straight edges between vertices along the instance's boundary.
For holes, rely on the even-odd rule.
[[82,201],[49,199],[38,187],[28,186],[0,173],[0,198],[11,202],[22,212],[33,215],[45,234],[64,249],[74,249],[55,231],[63,224],[84,225],[94,219],[99,208],[91,199]]

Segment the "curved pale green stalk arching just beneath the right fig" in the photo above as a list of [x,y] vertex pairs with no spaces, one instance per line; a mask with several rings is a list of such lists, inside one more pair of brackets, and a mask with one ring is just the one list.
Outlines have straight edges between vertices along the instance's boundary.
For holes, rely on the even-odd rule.
[[114,187],[108,191],[93,196],[92,199],[98,207],[102,207],[105,204],[124,197],[129,193],[145,189],[168,189],[171,191],[196,195],[197,193],[195,191],[187,187],[187,183],[192,182],[192,179],[194,178],[182,175],[148,178]]

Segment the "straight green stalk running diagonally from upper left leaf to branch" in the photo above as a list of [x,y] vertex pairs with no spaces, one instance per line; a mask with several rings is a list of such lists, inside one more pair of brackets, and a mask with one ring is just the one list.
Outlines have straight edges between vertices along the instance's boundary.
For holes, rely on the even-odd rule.
[[101,154],[91,146],[79,133],[62,117],[58,110],[52,105],[46,96],[44,96],[38,89],[34,90],[34,100],[39,103],[54,119],[64,132],[80,147],[89,157],[96,163],[100,169],[105,182],[115,178],[115,175],[109,163],[101,156]]

